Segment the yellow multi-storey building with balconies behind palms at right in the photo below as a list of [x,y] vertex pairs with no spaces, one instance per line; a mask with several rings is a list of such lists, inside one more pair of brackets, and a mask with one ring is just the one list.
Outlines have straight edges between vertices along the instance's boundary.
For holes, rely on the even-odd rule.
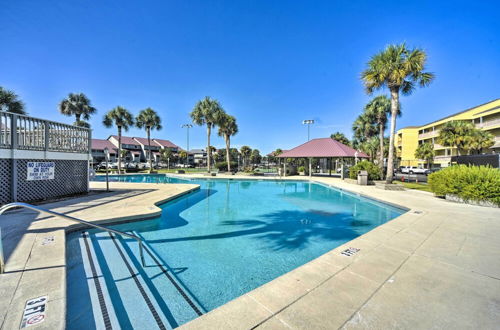
[[500,99],[470,108],[451,116],[422,126],[405,127],[397,132],[396,148],[401,166],[424,165],[425,161],[416,159],[415,150],[425,142],[434,144],[434,164],[448,166],[451,156],[457,155],[456,148],[444,147],[437,143],[439,130],[444,123],[452,120],[470,120],[477,128],[490,132],[495,137],[491,152],[500,152]]

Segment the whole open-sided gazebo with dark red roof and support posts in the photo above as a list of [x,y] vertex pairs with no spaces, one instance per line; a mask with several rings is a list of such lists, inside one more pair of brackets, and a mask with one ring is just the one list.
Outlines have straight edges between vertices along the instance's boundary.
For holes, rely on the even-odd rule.
[[357,160],[358,158],[369,158],[367,154],[357,151],[345,144],[342,144],[332,138],[312,139],[300,146],[283,152],[278,158],[284,158],[283,174],[286,176],[287,158],[306,158],[309,160],[309,176],[312,175],[312,159],[320,158],[330,160],[329,172],[332,175],[333,159],[340,160],[341,177],[344,178],[344,162],[346,159]]

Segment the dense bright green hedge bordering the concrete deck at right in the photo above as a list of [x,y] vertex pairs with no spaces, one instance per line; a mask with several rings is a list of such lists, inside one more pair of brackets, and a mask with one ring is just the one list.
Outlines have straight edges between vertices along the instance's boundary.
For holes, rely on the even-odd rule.
[[500,170],[489,166],[456,165],[428,178],[437,196],[456,195],[465,201],[489,201],[500,205]]

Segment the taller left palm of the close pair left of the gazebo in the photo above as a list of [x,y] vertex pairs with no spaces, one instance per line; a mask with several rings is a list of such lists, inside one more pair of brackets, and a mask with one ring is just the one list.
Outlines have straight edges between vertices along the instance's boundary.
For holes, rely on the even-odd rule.
[[207,166],[210,173],[210,134],[212,127],[219,124],[225,112],[217,100],[206,96],[203,100],[198,101],[191,111],[191,119],[198,126],[207,125]]

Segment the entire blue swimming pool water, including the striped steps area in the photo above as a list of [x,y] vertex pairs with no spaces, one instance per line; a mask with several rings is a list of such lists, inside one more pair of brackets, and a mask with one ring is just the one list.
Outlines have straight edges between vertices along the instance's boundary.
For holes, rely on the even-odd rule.
[[179,326],[405,212],[303,181],[110,179],[201,187],[112,227],[145,240],[147,267],[134,240],[68,235],[68,328]]

